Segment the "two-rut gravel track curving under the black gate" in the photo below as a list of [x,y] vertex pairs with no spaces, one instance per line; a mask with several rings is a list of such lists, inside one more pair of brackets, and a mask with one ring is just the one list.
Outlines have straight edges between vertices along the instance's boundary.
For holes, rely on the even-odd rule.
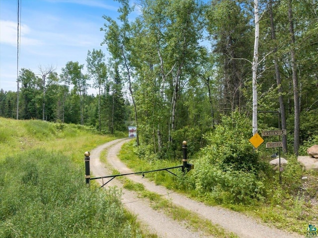
[[[100,153],[105,149],[108,150],[107,161],[113,168],[117,169],[120,173],[133,172],[117,157],[121,146],[128,141],[129,139],[115,140],[91,151],[90,170],[94,177],[109,175],[111,172],[110,168],[106,168],[99,160]],[[257,223],[252,218],[237,212],[219,207],[206,206],[203,203],[191,200],[165,187],[155,185],[155,183],[147,180],[147,178],[143,178],[141,175],[128,175],[127,177],[134,182],[144,184],[147,190],[165,196],[173,204],[191,210],[202,218],[210,220],[213,224],[218,224],[224,229],[237,234],[240,238],[304,238],[304,236],[298,234],[286,233],[276,228],[270,228],[265,224]],[[98,180],[99,183],[102,184],[102,180]],[[122,184],[116,179],[113,179],[107,185],[122,187]],[[124,206],[136,214],[139,221],[146,224],[148,229],[156,233],[160,238],[213,237],[204,236],[200,232],[191,231],[185,224],[172,220],[160,211],[153,210],[146,200],[138,198],[134,192],[126,189],[122,189],[122,191],[122,202]]]

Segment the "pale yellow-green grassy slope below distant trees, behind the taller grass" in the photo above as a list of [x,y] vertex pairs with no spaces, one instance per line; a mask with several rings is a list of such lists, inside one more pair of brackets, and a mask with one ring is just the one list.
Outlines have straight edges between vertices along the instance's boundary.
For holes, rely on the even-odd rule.
[[101,136],[92,128],[39,120],[16,121],[0,118],[0,161],[9,155],[45,148],[83,158],[86,150],[115,139]]

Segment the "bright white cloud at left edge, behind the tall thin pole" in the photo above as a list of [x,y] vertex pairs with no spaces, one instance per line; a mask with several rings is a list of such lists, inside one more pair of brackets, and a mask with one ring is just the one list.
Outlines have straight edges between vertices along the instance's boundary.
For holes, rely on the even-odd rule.
[[[27,35],[31,32],[30,28],[21,24],[20,28],[20,42],[23,45],[39,45],[41,41],[32,39],[27,37]],[[8,20],[0,20],[0,43],[1,44],[9,44],[9,45],[17,45],[17,23],[14,21]]]

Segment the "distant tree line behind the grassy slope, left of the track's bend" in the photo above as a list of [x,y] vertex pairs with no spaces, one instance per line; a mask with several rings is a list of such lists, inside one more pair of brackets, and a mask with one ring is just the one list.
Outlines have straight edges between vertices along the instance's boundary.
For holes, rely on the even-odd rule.
[[[95,55],[101,51],[88,51],[88,74],[83,74],[84,65],[68,62],[58,75],[52,66],[39,67],[39,74],[22,68],[19,72],[19,119],[42,119],[61,123],[91,125],[100,133],[124,131],[129,123],[129,101],[123,95],[123,82],[118,71],[105,74],[93,80],[98,94],[87,93],[87,80],[95,73],[89,67],[94,64]],[[17,93],[0,91],[0,116],[16,117]],[[103,120],[101,120],[103,118]]]

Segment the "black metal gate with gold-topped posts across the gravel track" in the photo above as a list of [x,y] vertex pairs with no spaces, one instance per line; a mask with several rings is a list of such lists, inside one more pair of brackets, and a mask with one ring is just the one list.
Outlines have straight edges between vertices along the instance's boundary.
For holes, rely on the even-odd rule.
[[103,178],[111,178],[109,179],[106,183],[104,183],[101,188],[103,186],[105,186],[107,183],[109,183],[111,180],[113,180],[115,177],[119,177],[119,176],[125,176],[125,175],[131,175],[131,174],[142,174],[143,177],[145,176],[145,173],[150,173],[150,172],[156,172],[156,171],[167,171],[173,175],[176,176],[175,173],[169,171],[168,169],[173,169],[173,168],[182,168],[182,172],[185,173],[186,171],[190,171],[191,169],[194,168],[194,165],[191,163],[188,163],[188,159],[187,159],[187,142],[183,141],[182,143],[182,151],[183,151],[183,164],[179,165],[179,166],[174,166],[174,167],[168,167],[168,168],[160,168],[160,169],[155,169],[155,170],[150,170],[150,171],[141,171],[141,172],[133,172],[133,173],[123,173],[123,174],[113,174],[113,175],[106,175],[106,176],[101,176],[101,177],[90,177],[90,171],[89,171],[89,156],[90,153],[89,152],[85,152],[84,153],[84,161],[85,161],[85,180],[86,180],[86,184],[90,183],[90,180],[94,180],[94,179],[103,179]]

